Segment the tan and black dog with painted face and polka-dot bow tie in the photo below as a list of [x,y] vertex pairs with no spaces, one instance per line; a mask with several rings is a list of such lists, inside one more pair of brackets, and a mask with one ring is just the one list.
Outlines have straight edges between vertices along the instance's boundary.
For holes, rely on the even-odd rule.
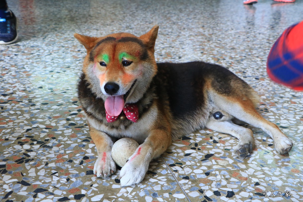
[[116,171],[111,148],[122,137],[140,144],[121,169],[122,186],[141,182],[149,162],[172,140],[204,127],[237,137],[235,154],[245,157],[252,152],[253,133],[233,118],[264,130],[278,153],[291,150],[292,141],[255,110],[256,92],[228,69],[200,61],[156,63],[157,34],[158,25],[140,37],[74,35],[87,50],[78,99],[98,151],[97,177]]

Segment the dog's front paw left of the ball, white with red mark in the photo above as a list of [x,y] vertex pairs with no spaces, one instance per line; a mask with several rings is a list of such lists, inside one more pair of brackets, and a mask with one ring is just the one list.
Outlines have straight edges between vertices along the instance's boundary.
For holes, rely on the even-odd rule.
[[99,154],[95,162],[94,174],[97,177],[108,177],[116,171],[116,164],[112,159],[111,151]]

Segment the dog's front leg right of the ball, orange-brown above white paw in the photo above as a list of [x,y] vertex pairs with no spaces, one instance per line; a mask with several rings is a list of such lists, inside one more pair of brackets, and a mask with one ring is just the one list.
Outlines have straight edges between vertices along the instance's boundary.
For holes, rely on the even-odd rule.
[[154,129],[135,153],[128,158],[127,163],[120,171],[121,186],[129,186],[143,180],[149,162],[160,156],[171,144],[171,135],[168,130]]

